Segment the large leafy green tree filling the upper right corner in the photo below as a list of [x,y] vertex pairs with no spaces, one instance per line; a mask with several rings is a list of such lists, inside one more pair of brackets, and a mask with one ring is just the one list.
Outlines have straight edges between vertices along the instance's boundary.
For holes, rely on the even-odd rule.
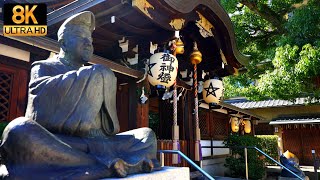
[[239,50],[250,55],[245,73],[224,78],[225,96],[294,100],[320,97],[319,0],[221,0]]

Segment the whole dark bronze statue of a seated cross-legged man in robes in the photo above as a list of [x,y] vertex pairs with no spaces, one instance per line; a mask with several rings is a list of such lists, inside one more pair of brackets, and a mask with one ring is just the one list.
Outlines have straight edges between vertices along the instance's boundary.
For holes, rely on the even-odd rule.
[[99,179],[160,169],[149,128],[119,133],[117,79],[93,54],[94,15],[82,12],[58,30],[60,53],[32,64],[25,117],[2,135],[9,179]]

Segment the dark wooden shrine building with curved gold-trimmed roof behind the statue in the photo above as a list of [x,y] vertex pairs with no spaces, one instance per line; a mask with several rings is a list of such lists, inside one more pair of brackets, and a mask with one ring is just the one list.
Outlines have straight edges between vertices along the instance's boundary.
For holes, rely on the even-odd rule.
[[[7,0],[6,3],[25,3]],[[194,98],[190,84],[193,66],[189,55],[193,43],[198,44],[202,62],[198,65],[198,81],[203,74],[219,77],[236,74],[248,63],[236,47],[234,31],[228,14],[218,0],[32,0],[30,3],[47,5],[48,34],[45,37],[6,37],[2,34],[3,13],[0,13],[0,121],[11,121],[23,116],[31,63],[59,52],[57,30],[71,15],[88,10],[96,17],[93,32],[94,57],[90,63],[110,67],[118,78],[117,110],[121,131],[149,126],[149,111],[158,115],[157,135],[170,140],[172,104],[162,100],[147,79],[143,79],[147,59],[155,51],[167,48],[179,31],[185,53],[177,55],[178,124],[181,150],[193,159]],[[3,7],[3,1],[0,7]],[[141,82],[139,82],[141,81]],[[139,83],[137,83],[139,82]],[[140,102],[142,89],[149,98]],[[230,114],[241,114],[251,120],[260,117],[230,104],[222,103],[209,110],[200,99],[201,138],[221,140],[229,131]],[[183,143],[182,143],[183,144]],[[161,147],[160,147],[161,146]],[[168,146],[168,147],[164,147]],[[169,148],[159,143],[159,148]]]

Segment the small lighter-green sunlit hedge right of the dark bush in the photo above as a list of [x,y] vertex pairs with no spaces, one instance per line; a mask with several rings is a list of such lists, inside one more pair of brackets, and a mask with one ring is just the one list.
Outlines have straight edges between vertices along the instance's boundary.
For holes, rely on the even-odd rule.
[[[257,135],[261,150],[271,156],[273,159],[278,160],[278,136],[277,135]],[[275,165],[273,161],[266,158],[265,163],[268,165]]]

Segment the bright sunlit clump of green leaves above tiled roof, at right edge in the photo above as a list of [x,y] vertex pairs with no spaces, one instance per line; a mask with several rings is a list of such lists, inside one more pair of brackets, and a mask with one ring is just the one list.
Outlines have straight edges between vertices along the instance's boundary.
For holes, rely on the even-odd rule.
[[292,99],[317,93],[312,78],[320,73],[320,49],[307,44],[286,45],[276,50],[274,70],[260,76],[258,91],[274,99]]

